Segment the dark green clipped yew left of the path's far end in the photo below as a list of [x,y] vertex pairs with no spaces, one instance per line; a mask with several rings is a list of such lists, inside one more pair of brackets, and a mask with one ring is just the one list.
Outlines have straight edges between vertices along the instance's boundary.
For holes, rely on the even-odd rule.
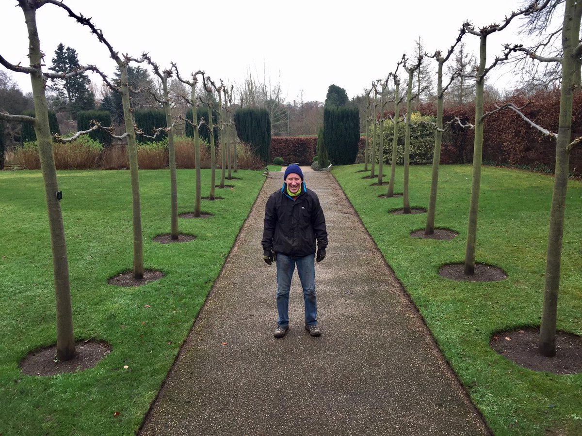
[[[243,108],[235,112],[236,134],[265,162],[271,162],[271,120],[267,109]],[[275,154],[275,156],[282,156]],[[283,156],[283,159],[285,157]]]

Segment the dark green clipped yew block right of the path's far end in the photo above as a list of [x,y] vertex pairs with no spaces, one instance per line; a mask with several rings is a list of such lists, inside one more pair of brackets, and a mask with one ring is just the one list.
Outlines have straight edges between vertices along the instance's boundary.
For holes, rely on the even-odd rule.
[[333,165],[350,165],[356,161],[360,139],[358,108],[324,108],[324,145]]

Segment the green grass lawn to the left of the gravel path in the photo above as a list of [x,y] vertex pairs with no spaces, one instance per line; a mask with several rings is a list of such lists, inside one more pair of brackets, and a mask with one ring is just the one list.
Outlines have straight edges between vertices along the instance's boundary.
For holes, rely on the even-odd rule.
[[[120,288],[107,278],[132,268],[129,171],[59,171],[75,336],[106,341],[111,353],[90,370],[32,377],[20,360],[56,341],[44,188],[40,171],[0,171],[0,434],[139,428],[265,180],[262,171],[235,175],[234,188],[216,190],[225,199],[203,200],[212,217],[179,220],[196,240],[157,244],[152,237],[169,233],[169,172],[140,171],[144,266],[166,276]],[[202,176],[204,196],[210,170]],[[179,213],[193,210],[194,177],[178,170]]]

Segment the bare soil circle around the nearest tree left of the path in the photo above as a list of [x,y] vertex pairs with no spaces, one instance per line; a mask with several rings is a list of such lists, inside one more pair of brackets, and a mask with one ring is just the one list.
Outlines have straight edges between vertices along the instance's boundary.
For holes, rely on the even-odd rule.
[[111,352],[111,346],[106,342],[77,341],[76,356],[62,362],[56,359],[56,345],[40,348],[28,353],[20,361],[20,369],[29,376],[56,376],[61,373],[74,373],[93,368],[101,359]]

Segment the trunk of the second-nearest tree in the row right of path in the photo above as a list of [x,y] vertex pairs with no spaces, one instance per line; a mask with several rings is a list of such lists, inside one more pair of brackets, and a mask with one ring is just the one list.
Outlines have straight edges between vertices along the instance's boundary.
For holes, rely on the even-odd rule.
[[481,159],[483,151],[483,88],[485,62],[487,62],[487,35],[481,35],[479,49],[479,69],[475,86],[475,141],[473,148],[473,183],[469,205],[469,226],[467,228],[467,248],[465,251],[464,274],[475,274],[475,249],[477,241],[477,215],[479,210],[479,191],[481,189]]

